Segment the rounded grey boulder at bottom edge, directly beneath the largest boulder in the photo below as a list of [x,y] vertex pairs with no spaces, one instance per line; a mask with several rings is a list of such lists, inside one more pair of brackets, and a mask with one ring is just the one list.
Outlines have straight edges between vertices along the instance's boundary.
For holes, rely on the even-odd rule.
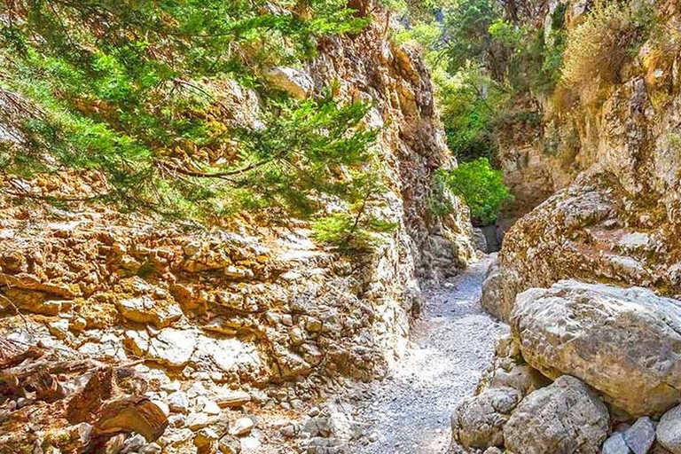
[[608,422],[598,395],[564,375],[522,400],[504,426],[505,447],[518,454],[598,454]]

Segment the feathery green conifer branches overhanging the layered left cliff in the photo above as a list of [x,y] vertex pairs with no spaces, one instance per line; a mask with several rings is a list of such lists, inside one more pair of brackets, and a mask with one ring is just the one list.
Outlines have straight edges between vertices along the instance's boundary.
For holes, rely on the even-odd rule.
[[[300,65],[324,36],[364,27],[345,4],[5,4],[0,94],[17,93],[33,114],[14,119],[29,143],[0,147],[4,172],[91,169],[111,188],[99,200],[201,221],[262,208],[310,217],[325,197],[355,204],[372,187],[370,106],[289,98],[263,75]],[[262,124],[231,121],[228,79],[257,90]]]

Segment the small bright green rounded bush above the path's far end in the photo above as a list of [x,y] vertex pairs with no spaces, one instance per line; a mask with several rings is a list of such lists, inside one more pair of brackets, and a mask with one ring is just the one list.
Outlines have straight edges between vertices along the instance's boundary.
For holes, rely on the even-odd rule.
[[486,158],[463,162],[442,172],[442,178],[451,192],[466,201],[471,215],[481,223],[494,223],[501,204],[512,199],[501,172],[493,169]]

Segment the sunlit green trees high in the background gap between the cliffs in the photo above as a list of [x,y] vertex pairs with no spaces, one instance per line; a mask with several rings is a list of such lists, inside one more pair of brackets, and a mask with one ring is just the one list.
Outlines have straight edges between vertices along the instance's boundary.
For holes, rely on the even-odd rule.
[[548,94],[560,78],[565,6],[552,13],[548,36],[521,25],[508,6],[445,0],[439,4],[443,23],[419,19],[398,35],[426,50],[447,142],[460,161],[495,160],[511,100],[528,92]]

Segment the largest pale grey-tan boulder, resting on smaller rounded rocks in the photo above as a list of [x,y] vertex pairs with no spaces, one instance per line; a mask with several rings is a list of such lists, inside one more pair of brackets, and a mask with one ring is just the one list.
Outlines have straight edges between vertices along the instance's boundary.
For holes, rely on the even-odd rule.
[[578,377],[632,416],[661,413],[681,398],[679,301],[560,281],[519,294],[511,327],[532,367]]

